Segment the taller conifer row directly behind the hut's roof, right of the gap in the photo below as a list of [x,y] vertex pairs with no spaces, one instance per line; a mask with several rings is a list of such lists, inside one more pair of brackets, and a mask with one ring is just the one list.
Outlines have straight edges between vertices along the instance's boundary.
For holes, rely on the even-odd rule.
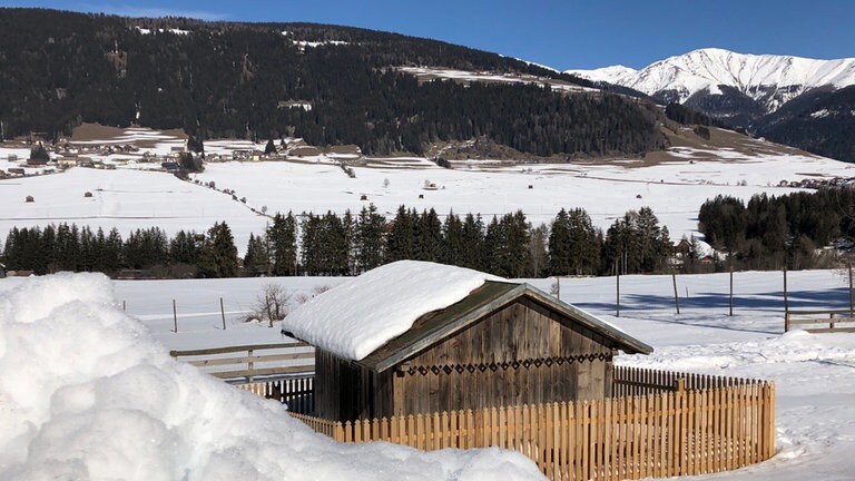
[[603,235],[580,208],[534,227],[520,210],[485,223],[478,214],[441,219],[434,209],[401,206],[386,220],[370,205],[355,216],[276,215],[264,235],[250,235],[244,266],[247,275],[357,275],[414,259],[539,277],[659,272],[671,253],[668,229],[649,207],[628,212]]

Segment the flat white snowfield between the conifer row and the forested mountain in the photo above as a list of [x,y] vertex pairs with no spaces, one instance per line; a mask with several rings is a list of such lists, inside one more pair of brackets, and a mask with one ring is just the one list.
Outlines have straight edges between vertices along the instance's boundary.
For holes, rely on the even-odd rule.
[[[758,140],[759,143],[759,140]],[[209,141],[212,150],[227,153],[237,141]],[[0,149],[0,158],[4,156]],[[394,216],[399,206],[435,208],[441,216],[480,213],[489,220],[522,209],[534,225],[549,223],[560,208],[583,207],[596,226],[608,228],[628,209],[649,206],[668,226],[672,239],[697,233],[700,205],[716,195],[743,199],[759,193],[784,195],[780,180],[855,176],[855,166],[813,156],[745,156],[733,150],[691,151],[656,165],[632,160],[594,164],[509,165],[501,161],[455,161],[443,169],[419,158],[366,159],[348,177],[334,156],[299,161],[213,163],[200,183],[214,181],[230,195],[181,181],[169,174],[142,171],[140,165],[116,170],[72,168],[66,173],[0,180],[0,238],[12,227],[77,223],[122,236],[138,227],[158,226],[174,235],[179,229],[207,230],[226,220],[240,252],[250,233],[259,234],[268,217],[254,213],[352,213],[374,204]],[[702,154],[702,156],[701,156]],[[717,160],[700,157],[715,154]],[[695,158],[694,156],[698,156]],[[425,184],[435,189],[425,189]],[[91,192],[91,198],[83,193]],[[33,196],[33,203],[24,203]],[[365,199],[363,199],[363,197]],[[420,198],[421,197],[421,198]]]

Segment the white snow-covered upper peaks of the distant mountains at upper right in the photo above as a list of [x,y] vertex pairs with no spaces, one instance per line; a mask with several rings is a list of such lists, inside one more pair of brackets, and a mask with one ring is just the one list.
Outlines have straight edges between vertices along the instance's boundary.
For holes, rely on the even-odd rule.
[[855,85],[855,58],[816,60],[708,48],[670,57],[641,70],[613,66],[567,73],[680,104],[697,96],[741,94],[758,102],[765,110],[761,114],[768,114],[813,88]]

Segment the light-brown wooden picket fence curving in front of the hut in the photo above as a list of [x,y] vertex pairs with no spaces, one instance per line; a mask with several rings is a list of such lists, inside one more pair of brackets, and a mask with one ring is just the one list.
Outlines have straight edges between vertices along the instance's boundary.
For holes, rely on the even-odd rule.
[[[653,375],[641,371],[623,374]],[[292,415],[342,442],[389,441],[426,451],[485,446],[515,450],[531,458],[552,480],[707,474],[743,468],[775,454],[773,383],[695,376],[696,385],[710,387],[686,389],[686,380],[691,376],[670,374],[678,382],[662,382],[658,390],[651,382],[645,387],[649,393],[590,402],[345,423]],[[633,389],[645,383],[633,382]]]

